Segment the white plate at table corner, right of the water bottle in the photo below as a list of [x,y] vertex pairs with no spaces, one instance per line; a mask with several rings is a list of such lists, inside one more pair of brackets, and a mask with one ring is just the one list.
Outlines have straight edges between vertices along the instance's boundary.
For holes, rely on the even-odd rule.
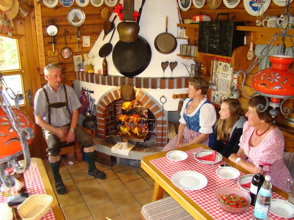
[[294,217],[294,205],[283,199],[272,199],[270,212],[282,218]]

